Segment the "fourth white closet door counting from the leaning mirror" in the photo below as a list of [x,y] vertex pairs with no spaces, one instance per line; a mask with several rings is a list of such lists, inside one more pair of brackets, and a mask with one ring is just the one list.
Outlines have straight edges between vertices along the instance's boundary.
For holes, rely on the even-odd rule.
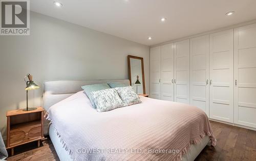
[[190,104],[209,116],[209,35],[190,39]]

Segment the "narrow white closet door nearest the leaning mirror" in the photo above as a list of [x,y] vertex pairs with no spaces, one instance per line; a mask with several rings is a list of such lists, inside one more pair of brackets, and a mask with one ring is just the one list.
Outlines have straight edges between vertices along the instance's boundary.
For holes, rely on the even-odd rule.
[[150,49],[150,97],[161,99],[161,46]]

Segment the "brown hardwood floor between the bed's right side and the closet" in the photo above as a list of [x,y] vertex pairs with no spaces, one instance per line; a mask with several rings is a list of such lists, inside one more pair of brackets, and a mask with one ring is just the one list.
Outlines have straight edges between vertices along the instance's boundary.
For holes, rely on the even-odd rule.
[[209,144],[196,160],[256,160],[256,131],[210,121],[217,138],[216,147]]

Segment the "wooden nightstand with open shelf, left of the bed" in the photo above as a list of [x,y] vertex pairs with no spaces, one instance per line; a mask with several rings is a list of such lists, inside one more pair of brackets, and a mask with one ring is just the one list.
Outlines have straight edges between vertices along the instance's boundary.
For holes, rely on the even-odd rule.
[[6,113],[7,117],[7,140],[6,149],[11,149],[14,154],[14,147],[44,138],[44,109],[39,107],[33,111],[11,110]]

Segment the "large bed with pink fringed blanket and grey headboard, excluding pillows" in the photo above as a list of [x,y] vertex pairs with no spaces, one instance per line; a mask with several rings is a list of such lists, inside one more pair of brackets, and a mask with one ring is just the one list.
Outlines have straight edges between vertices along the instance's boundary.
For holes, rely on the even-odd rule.
[[[44,108],[51,121],[48,131],[60,160],[194,160],[209,142],[215,146],[207,116],[193,106],[140,96],[140,104],[96,112],[81,86],[110,81],[130,85],[127,79],[45,82]],[[183,123],[173,121],[174,117]],[[196,135],[194,129],[203,133]],[[182,130],[190,141],[179,139]],[[174,147],[181,151],[174,152]]]

